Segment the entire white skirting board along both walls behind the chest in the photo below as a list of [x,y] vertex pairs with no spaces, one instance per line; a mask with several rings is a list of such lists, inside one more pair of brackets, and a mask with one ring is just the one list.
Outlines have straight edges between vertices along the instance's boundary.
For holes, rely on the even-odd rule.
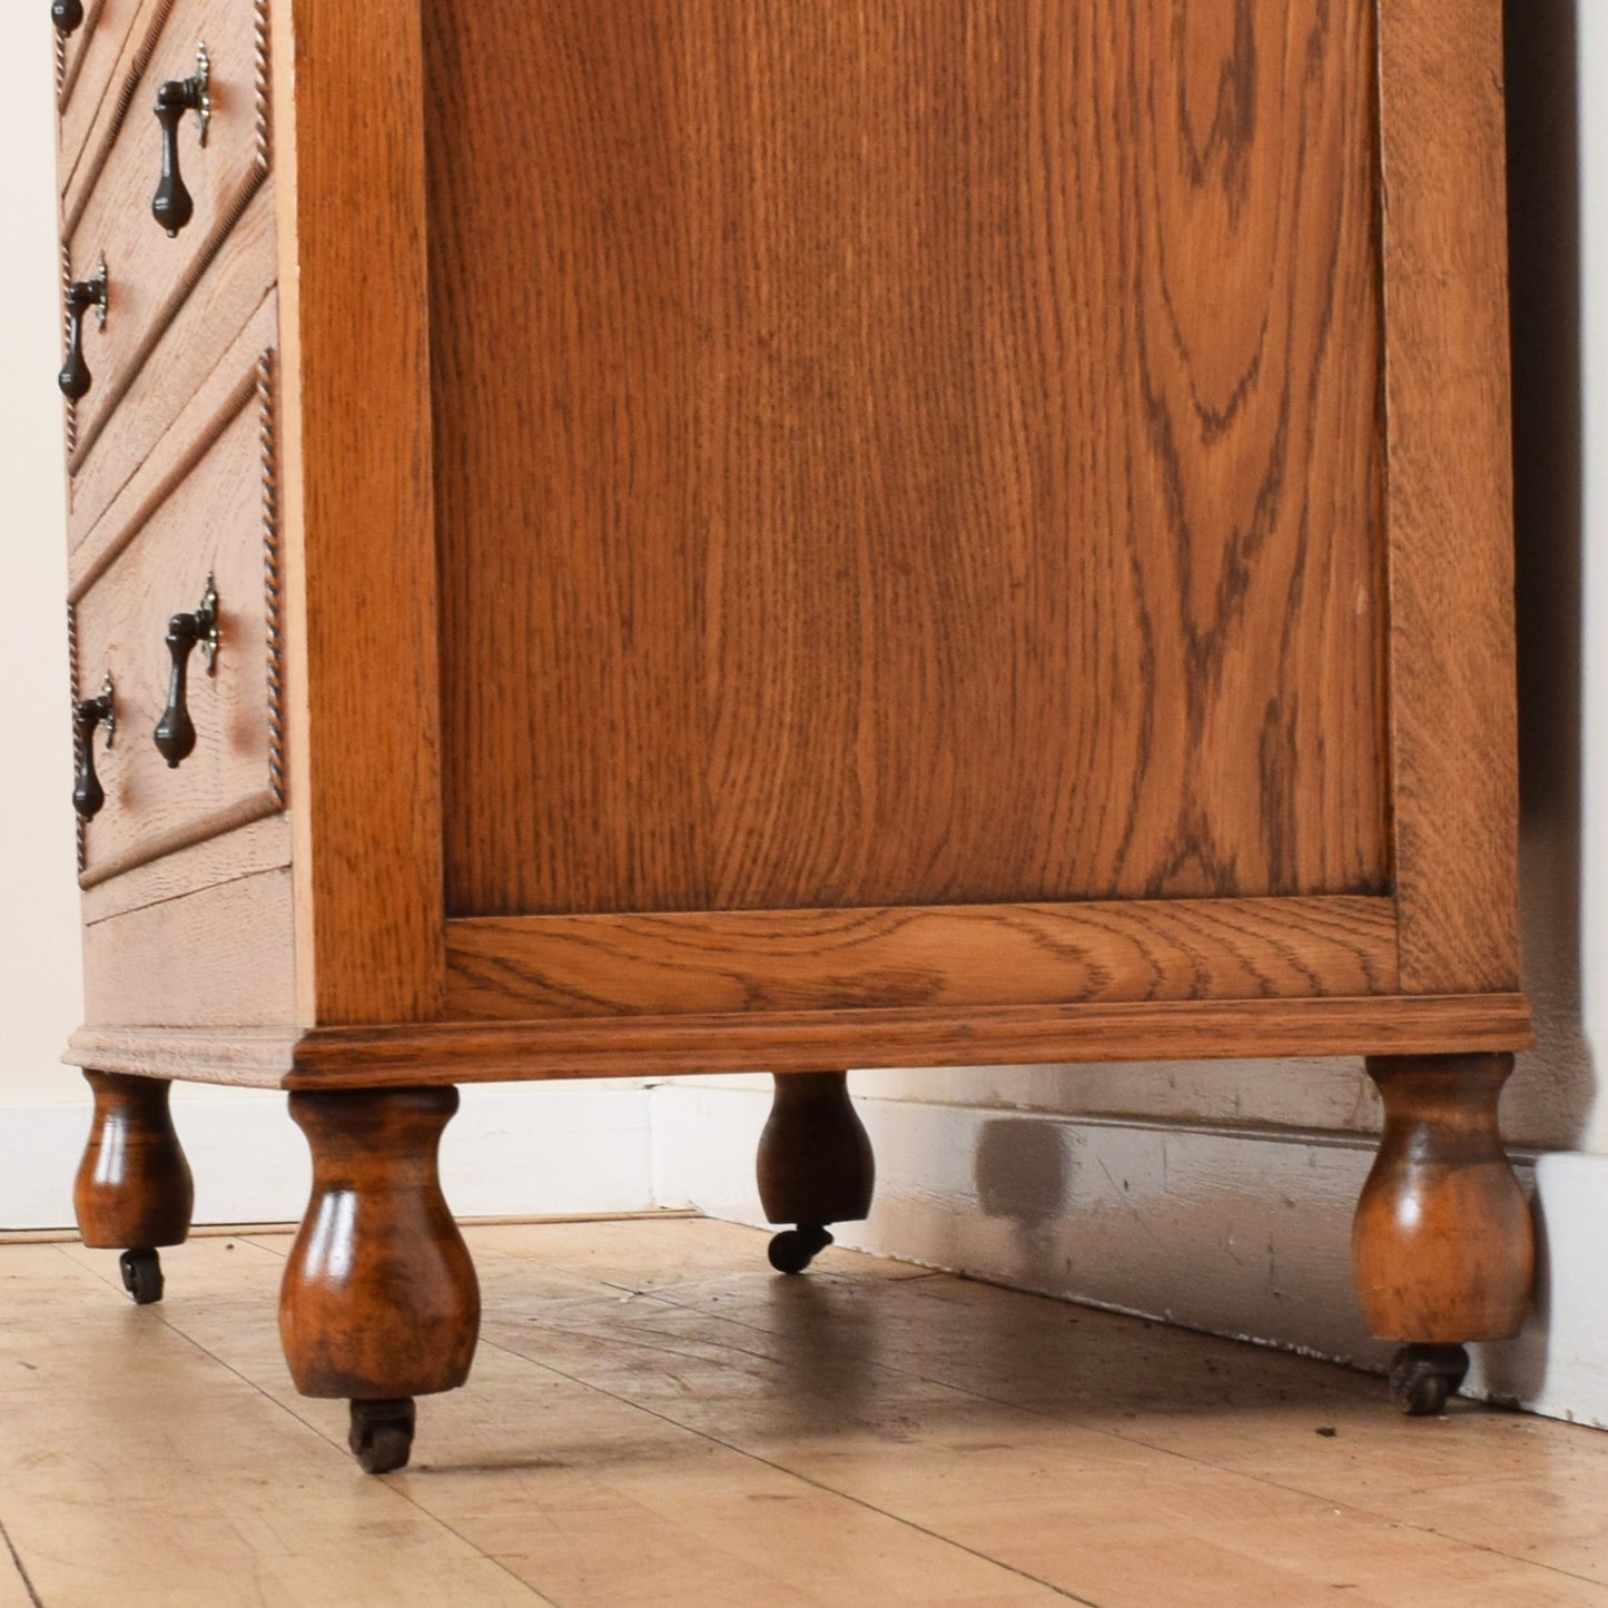
[[[463,1089],[442,1145],[461,1217],[687,1209],[762,1224],[754,1151],[769,1090],[746,1082]],[[1373,1159],[1364,1134],[1153,1122],[917,1100],[857,1100],[876,1203],[854,1249],[1365,1368],[1349,1237]],[[306,1142],[283,1097],[187,1097],[175,1121],[198,1224],[293,1222]],[[71,1225],[84,1103],[0,1118],[0,1230]],[[1515,1153],[1537,1201],[1537,1309],[1473,1348],[1468,1389],[1608,1428],[1608,1291],[1597,1233],[1608,1156]]]

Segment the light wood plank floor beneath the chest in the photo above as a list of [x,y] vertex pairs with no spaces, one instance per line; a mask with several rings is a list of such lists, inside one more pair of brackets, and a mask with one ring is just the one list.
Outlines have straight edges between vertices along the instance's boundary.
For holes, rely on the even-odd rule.
[[0,1246],[0,1608],[1608,1603],[1608,1434],[698,1219],[478,1227],[474,1378],[360,1475],[288,1240]]

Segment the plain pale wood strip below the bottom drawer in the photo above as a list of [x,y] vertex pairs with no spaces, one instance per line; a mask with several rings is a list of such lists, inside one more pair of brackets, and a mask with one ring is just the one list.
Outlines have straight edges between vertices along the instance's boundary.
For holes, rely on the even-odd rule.
[[85,1024],[294,1021],[291,909],[291,873],[278,870],[96,921],[84,929]]

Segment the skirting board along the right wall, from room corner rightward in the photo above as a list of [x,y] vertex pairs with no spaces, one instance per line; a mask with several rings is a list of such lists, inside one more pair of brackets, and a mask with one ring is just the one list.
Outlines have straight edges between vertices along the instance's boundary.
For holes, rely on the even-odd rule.
[[[654,1193],[764,1222],[753,1158],[769,1111],[753,1089],[654,1095]],[[1351,1219],[1367,1138],[1151,1126],[902,1100],[857,1101],[876,1203],[839,1245],[1383,1368],[1362,1327]],[[1537,1190],[1542,1278],[1526,1333],[1478,1346],[1468,1389],[1608,1426],[1608,1158],[1520,1164]]]

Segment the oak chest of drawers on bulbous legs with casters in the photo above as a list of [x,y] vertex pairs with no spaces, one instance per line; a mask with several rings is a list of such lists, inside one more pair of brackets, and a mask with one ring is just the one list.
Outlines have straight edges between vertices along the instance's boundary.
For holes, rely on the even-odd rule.
[[137,1298],[167,1082],[289,1089],[286,1354],[397,1466],[457,1084],[773,1071],[799,1270],[847,1066],[1359,1053],[1397,1399],[1516,1331],[1494,0],[85,0],[59,71]]

